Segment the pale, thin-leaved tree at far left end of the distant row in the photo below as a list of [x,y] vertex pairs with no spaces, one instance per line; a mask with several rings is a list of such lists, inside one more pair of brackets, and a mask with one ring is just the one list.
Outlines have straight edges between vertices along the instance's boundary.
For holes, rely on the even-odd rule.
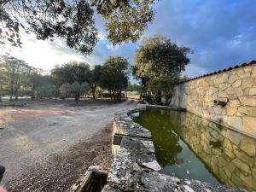
[[25,61],[9,56],[3,57],[0,67],[3,68],[6,74],[6,84],[9,86],[9,100],[12,101],[14,95],[15,99],[18,100],[20,86],[28,84],[29,75],[34,68],[27,65]]

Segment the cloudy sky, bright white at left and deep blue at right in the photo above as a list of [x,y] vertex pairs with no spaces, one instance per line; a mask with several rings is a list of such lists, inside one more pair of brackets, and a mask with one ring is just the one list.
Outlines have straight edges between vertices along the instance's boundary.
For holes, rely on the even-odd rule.
[[[256,1],[255,0],[160,0],[154,5],[154,22],[143,37],[162,34],[178,45],[189,46],[194,54],[184,72],[195,77],[256,59]],[[112,47],[106,39],[104,21],[96,15],[100,41],[93,53],[84,56],[68,49],[61,39],[38,41],[23,35],[23,49],[2,49],[34,67],[51,69],[67,61],[87,61],[102,64],[109,55],[122,55],[133,61],[137,44]]]

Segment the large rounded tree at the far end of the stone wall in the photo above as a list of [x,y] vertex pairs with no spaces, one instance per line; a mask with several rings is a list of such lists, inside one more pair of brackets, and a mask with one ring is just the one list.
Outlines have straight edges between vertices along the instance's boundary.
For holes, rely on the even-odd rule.
[[[141,79],[144,98],[159,103],[163,91],[164,95],[172,96],[173,84],[177,83],[181,72],[189,64],[189,53],[191,50],[188,47],[178,47],[160,35],[143,39],[136,49],[133,73]],[[153,93],[153,98],[148,92]],[[166,98],[166,101],[169,100]]]

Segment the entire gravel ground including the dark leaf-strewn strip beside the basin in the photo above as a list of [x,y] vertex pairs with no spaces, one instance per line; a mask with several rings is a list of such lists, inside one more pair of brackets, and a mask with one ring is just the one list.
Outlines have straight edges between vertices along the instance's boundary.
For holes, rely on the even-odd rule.
[[[113,114],[136,104],[38,102],[0,108],[0,118],[8,110],[13,117],[2,118],[0,130],[0,165],[6,168],[2,184],[9,191],[68,191],[88,166],[107,168]],[[22,109],[34,110],[33,115]]]

